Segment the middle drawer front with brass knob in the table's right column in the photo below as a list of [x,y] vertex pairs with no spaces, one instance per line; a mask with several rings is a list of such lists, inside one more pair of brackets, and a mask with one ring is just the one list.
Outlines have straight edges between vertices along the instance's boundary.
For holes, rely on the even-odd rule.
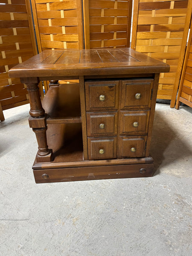
[[150,111],[120,111],[120,134],[144,134],[148,131]]

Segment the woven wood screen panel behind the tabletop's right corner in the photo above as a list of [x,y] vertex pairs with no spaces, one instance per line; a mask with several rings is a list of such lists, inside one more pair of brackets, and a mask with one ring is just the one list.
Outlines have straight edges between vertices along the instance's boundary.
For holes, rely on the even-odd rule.
[[135,0],[131,47],[170,65],[161,73],[157,99],[172,99],[188,0]]

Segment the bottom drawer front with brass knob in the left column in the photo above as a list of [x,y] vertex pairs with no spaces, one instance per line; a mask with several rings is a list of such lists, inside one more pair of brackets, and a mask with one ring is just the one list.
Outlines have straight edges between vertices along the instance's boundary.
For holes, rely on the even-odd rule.
[[88,138],[88,159],[116,158],[116,137]]

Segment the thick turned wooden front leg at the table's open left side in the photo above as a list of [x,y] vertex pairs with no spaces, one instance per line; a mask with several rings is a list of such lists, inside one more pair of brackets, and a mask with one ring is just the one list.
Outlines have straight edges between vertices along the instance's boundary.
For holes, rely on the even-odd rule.
[[23,78],[21,82],[26,84],[29,93],[29,114],[31,116],[29,117],[29,126],[33,128],[38,142],[36,161],[38,163],[50,162],[52,160],[52,149],[49,149],[47,145],[46,115],[39,95],[39,80],[37,78]]

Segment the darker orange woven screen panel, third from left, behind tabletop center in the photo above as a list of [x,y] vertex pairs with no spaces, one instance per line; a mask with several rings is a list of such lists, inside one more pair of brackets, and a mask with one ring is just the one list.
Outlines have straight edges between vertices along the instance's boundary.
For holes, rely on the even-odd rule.
[[132,0],[84,0],[85,48],[129,47]]

